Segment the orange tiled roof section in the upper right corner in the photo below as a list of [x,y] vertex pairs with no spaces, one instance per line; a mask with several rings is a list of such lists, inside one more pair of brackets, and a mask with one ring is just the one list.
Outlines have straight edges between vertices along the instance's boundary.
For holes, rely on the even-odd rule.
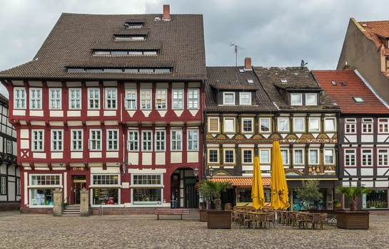
[[[375,43],[377,49],[383,45],[383,40],[389,38],[389,21],[358,21],[365,36]],[[385,55],[389,55],[385,46]]]

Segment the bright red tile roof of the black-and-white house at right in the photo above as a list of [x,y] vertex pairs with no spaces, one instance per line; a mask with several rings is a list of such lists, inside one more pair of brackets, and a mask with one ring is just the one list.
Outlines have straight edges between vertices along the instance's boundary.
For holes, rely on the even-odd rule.
[[[320,86],[340,107],[343,114],[388,114],[389,109],[378,99],[368,85],[353,70],[313,70]],[[333,85],[335,81],[336,85]],[[344,82],[341,85],[340,82]],[[353,97],[362,97],[365,102],[357,103]]]

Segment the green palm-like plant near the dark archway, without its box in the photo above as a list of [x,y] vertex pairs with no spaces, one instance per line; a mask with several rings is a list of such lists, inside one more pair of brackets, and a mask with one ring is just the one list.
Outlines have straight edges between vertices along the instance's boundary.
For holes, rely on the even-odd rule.
[[211,202],[215,203],[216,210],[221,210],[221,191],[231,186],[229,182],[199,181],[198,191],[206,200],[206,208],[209,209]]

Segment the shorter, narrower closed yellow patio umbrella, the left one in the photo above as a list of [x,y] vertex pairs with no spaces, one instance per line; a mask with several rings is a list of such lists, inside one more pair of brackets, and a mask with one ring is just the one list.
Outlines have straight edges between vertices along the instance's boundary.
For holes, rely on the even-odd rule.
[[260,209],[265,206],[265,193],[263,192],[263,183],[259,158],[254,157],[253,184],[251,184],[251,198],[253,199],[253,208]]

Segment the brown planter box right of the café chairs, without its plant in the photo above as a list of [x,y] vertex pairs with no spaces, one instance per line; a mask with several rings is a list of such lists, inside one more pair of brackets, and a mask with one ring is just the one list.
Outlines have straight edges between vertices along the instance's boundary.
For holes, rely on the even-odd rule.
[[369,211],[336,211],[336,226],[344,229],[369,229]]

